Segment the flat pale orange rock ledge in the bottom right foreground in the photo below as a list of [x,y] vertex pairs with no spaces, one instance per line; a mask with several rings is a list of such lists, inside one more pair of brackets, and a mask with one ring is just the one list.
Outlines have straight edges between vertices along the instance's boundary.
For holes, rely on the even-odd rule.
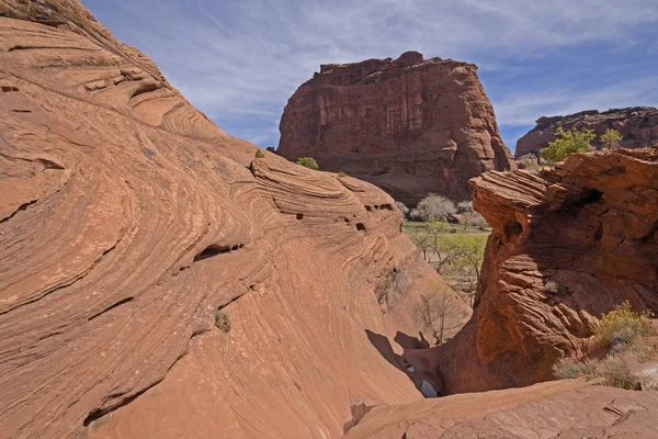
[[658,393],[554,381],[375,407],[344,439],[658,437]]

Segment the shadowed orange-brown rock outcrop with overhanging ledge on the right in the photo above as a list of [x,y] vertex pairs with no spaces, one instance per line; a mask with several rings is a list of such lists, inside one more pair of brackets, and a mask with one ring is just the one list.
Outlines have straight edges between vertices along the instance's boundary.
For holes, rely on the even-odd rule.
[[614,305],[658,311],[658,149],[578,154],[533,175],[472,180],[494,232],[470,322],[407,359],[444,394],[552,379],[592,348]]

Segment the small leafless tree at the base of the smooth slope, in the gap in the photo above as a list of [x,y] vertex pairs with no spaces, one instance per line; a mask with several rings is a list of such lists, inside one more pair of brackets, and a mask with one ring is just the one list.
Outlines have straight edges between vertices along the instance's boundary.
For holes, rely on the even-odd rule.
[[466,318],[454,294],[442,286],[420,297],[415,315],[418,325],[434,338],[435,345],[443,344]]

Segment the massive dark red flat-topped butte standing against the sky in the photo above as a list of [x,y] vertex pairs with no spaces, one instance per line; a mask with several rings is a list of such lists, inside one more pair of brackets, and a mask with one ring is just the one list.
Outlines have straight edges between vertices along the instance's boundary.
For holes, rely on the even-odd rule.
[[428,192],[468,199],[470,178],[515,169],[476,71],[417,52],[324,65],[288,100],[277,154],[314,157],[409,205]]

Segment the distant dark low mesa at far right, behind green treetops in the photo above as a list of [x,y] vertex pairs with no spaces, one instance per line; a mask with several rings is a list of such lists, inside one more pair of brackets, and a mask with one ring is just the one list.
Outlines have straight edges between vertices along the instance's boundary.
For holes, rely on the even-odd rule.
[[643,148],[658,145],[658,109],[653,106],[636,106],[629,109],[609,110],[599,113],[597,110],[582,111],[567,116],[540,117],[537,126],[523,135],[517,142],[514,157],[524,154],[537,155],[555,140],[555,131],[558,126],[564,130],[593,130],[597,139],[593,145],[600,147],[599,136],[605,130],[619,131],[624,139],[624,148]]

